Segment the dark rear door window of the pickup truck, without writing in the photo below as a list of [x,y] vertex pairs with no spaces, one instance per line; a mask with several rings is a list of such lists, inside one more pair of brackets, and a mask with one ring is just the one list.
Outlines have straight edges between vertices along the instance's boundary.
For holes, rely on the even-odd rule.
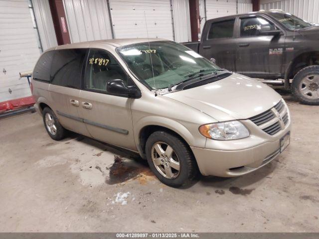
[[211,23],[208,39],[233,37],[235,19]]

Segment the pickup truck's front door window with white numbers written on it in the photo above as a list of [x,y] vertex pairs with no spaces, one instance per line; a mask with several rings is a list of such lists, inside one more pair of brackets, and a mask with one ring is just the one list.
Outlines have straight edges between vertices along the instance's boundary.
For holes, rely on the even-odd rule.
[[257,36],[260,31],[274,30],[273,23],[261,17],[249,17],[240,20],[240,36]]

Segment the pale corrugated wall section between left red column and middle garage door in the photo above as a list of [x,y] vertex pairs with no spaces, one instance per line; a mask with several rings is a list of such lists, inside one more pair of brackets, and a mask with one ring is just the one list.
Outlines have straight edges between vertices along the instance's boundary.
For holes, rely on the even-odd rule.
[[63,4],[71,43],[112,39],[106,0],[63,0]]

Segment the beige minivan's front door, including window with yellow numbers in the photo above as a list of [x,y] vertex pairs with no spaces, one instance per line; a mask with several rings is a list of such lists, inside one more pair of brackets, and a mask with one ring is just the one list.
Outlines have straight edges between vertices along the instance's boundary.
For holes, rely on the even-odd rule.
[[110,94],[106,84],[130,79],[115,57],[102,49],[91,49],[80,92],[81,118],[93,138],[135,150],[130,98]]

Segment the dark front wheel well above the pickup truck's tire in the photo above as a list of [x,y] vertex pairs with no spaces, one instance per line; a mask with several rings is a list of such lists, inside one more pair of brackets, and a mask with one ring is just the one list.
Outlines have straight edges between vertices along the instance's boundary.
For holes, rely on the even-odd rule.
[[290,66],[287,79],[293,79],[301,69],[311,65],[319,65],[318,51],[306,52],[297,56]]

